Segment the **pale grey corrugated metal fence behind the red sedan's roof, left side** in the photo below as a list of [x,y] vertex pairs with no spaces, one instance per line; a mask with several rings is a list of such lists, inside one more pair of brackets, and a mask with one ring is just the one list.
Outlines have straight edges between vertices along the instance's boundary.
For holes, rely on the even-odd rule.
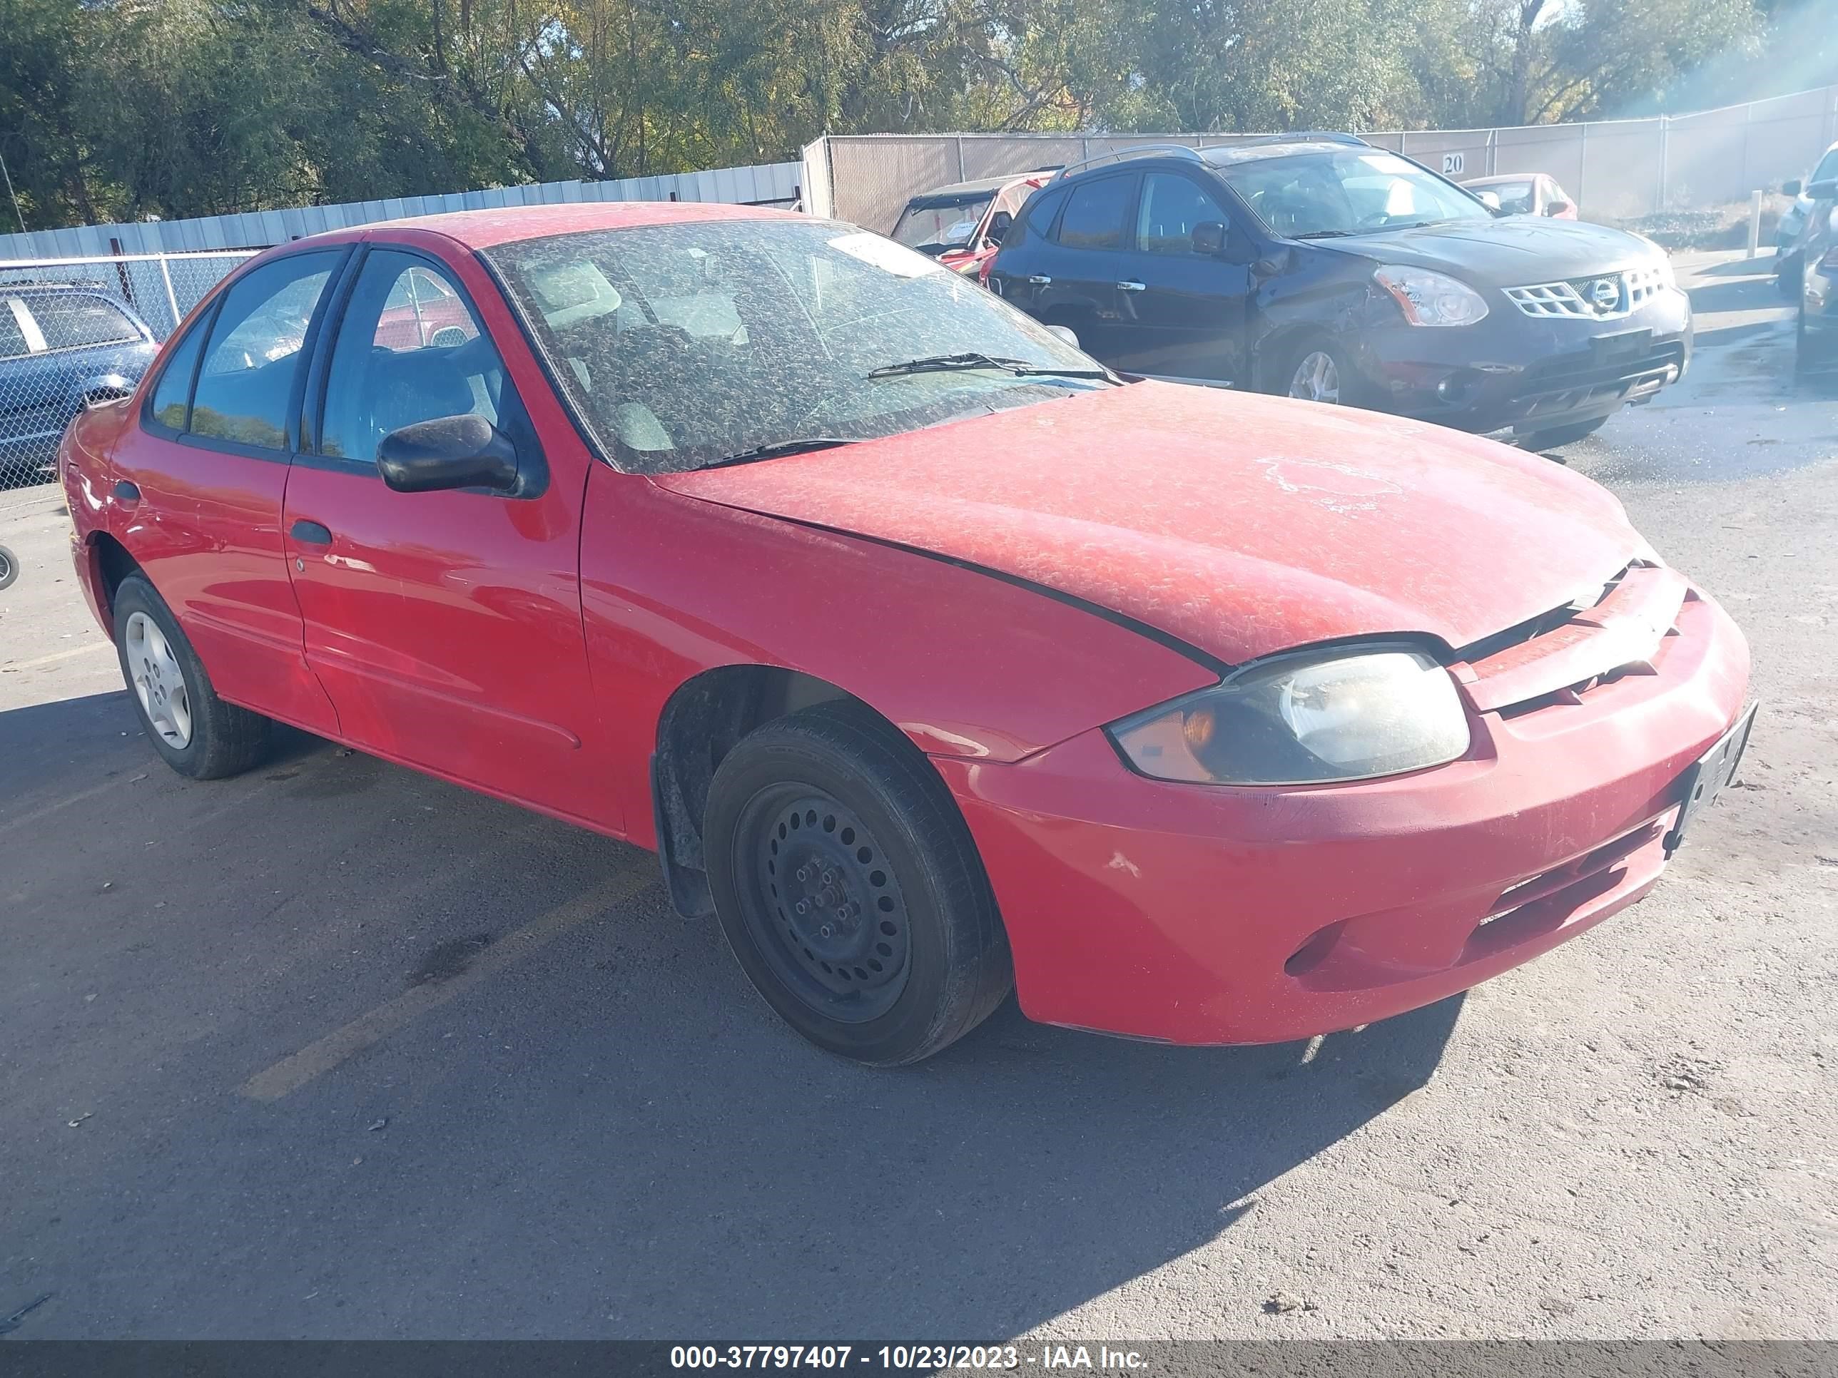
[[0,235],[0,259],[72,259],[118,254],[187,254],[224,248],[267,248],[322,230],[399,220],[408,215],[551,206],[575,200],[724,200],[750,206],[790,206],[800,197],[803,164],[715,167],[673,176],[629,176],[618,182],[539,182],[487,191],[450,191],[439,197],[358,200],[340,206],[298,206],[283,211],[208,215],[197,220],[143,224],[85,224],[72,230],[33,230]]

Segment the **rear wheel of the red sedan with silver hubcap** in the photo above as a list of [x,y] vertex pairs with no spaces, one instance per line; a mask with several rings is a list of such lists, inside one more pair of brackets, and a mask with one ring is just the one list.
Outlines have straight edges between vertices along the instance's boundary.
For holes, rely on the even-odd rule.
[[263,759],[274,722],[217,696],[178,619],[142,575],[116,590],[114,628],[140,728],[165,764],[187,779],[224,779]]

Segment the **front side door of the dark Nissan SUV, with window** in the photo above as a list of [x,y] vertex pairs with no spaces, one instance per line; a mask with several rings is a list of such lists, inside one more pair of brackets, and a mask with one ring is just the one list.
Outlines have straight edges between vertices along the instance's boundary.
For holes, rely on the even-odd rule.
[[[1129,252],[1118,268],[1118,356],[1129,373],[1176,382],[1235,384],[1244,371],[1250,266],[1200,254],[1193,232],[1219,226],[1231,235],[1220,198],[1186,173],[1143,173]],[[1242,255],[1239,255],[1242,257]]]

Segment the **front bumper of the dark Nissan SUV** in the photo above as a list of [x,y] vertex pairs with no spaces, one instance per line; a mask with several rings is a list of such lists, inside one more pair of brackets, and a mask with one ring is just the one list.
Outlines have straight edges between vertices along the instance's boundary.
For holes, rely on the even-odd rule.
[[1377,406],[1458,430],[1549,430],[1651,401],[1691,366],[1691,301],[1656,292],[1614,320],[1537,320],[1489,294],[1476,325],[1390,316],[1353,349]]

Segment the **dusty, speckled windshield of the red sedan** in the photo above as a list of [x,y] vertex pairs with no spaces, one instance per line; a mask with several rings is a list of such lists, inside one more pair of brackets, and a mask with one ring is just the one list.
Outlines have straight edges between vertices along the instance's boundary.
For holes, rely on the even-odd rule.
[[[1114,386],[1000,298],[851,224],[596,230],[489,257],[577,413],[634,472]],[[1020,377],[1033,369],[1046,377]]]

